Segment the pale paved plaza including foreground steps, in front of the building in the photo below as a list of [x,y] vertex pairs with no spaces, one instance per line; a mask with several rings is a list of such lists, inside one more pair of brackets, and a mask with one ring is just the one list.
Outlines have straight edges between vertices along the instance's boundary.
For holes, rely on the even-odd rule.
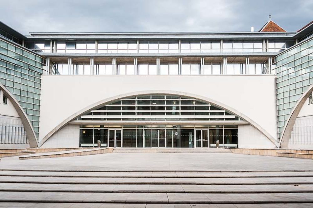
[[313,161],[128,153],[0,161],[0,207],[312,207]]

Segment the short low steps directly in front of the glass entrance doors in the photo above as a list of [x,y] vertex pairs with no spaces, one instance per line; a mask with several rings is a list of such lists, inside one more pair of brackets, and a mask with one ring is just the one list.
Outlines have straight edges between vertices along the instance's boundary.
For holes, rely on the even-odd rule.
[[230,149],[225,148],[114,148],[113,152],[122,153],[141,153],[141,152],[157,152],[157,153],[232,153]]

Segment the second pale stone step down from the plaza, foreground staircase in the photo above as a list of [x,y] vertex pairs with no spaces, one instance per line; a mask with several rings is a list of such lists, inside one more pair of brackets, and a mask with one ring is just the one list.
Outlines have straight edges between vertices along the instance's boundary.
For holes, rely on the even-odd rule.
[[264,185],[313,184],[313,177],[250,177],[250,178],[121,178],[121,177],[42,177],[0,176],[0,183],[49,184],[171,184],[171,185]]

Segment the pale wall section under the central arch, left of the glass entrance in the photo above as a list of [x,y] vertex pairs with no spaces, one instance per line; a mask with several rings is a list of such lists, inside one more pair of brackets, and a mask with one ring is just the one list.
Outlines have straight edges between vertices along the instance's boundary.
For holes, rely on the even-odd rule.
[[40,148],[76,148],[79,147],[79,125],[68,124],[55,133]]

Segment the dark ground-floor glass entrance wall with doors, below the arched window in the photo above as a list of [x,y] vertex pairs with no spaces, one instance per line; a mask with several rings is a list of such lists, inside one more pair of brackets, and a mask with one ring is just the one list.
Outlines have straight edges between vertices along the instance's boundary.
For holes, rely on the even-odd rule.
[[[98,140],[102,146],[114,146],[112,129],[122,132],[121,147],[208,148],[215,147],[217,140],[220,146],[238,146],[238,127],[234,125],[82,125],[80,147],[97,146]],[[202,132],[200,137],[198,132]],[[202,145],[195,146],[195,141]]]

